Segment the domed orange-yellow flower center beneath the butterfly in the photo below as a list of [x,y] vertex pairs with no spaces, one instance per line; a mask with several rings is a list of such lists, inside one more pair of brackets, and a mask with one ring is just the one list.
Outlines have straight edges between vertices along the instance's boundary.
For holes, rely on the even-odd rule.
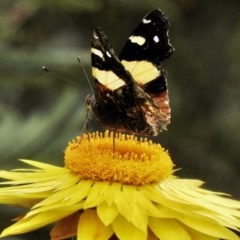
[[65,151],[65,167],[81,179],[145,185],[173,172],[169,154],[152,141],[106,131],[77,137]]

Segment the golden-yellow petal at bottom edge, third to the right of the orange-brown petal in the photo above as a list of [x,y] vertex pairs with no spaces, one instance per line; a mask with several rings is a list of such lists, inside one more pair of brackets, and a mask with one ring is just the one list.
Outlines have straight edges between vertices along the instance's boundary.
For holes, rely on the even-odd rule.
[[149,218],[148,226],[161,240],[191,240],[186,230],[174,219]]

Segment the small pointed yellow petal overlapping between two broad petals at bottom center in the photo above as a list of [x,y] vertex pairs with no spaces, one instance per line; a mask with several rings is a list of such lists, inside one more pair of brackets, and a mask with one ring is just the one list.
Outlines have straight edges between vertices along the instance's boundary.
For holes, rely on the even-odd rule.
[[101,221],[107,226],[113,222],[119,212],[115,205],[110,206],[103,202],[97,206],[97,213]]

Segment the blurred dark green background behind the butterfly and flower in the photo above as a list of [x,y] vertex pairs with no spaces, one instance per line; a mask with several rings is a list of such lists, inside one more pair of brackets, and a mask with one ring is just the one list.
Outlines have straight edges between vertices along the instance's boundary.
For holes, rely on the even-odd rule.
[[[91,78],[90,39],[102,26],[119,52],[149,11],[168,16],[176,51],[168,72],[172,123],[154,141],[167,148],[177,175],[240,199],[240,2],[237,0],[1,0],[0,169],[19,158],[63,165],[81,134]],[[66,81],[41,70],[45,65]],[[91,122],[90,129],[103,129]],[[0,230],[18,209],[0,208]],[[8,239],[48,239],[48,229]]]

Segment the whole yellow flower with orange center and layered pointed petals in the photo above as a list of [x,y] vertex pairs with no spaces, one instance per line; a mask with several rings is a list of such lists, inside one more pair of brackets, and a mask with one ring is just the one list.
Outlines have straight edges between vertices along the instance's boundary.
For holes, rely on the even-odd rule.
[[29,208],[1,237],[56,222],[51,239],[235,240],[240,202],[173,176],[169,154],[131,135],[93,133],[69,143],[65,166],[0,171],[0,203]]

